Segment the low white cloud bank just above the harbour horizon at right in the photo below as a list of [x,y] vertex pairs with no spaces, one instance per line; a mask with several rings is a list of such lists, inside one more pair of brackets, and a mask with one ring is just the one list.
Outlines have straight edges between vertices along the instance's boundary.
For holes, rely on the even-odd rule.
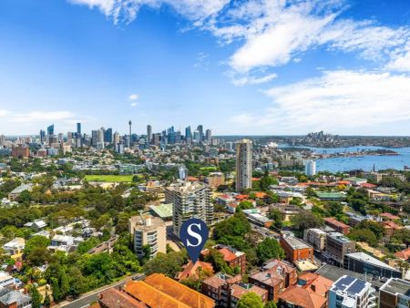
[[410,120],[410,77],[361,71],[327,71],[266,94],[273,105],[261,113],[231,118],[242,127],[301,133],[306,130],[357,131]]

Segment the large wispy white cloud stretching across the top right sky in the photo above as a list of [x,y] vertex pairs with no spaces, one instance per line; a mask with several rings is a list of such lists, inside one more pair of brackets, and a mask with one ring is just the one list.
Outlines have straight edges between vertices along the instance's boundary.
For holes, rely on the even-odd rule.
[[[169,5],[191,26],[210,31],[221,44],[235,42],[226,64],[237,83],[248,84],[250,73],[298,63],[317,47],[355,53],[390,70],[410,67],[410,26],[381,26],[376,21],[347,19],[347,0],[68,0],[97,7],[114,23],[136,18],[143,5]],[[198,67],[201,64],[195,64]]]

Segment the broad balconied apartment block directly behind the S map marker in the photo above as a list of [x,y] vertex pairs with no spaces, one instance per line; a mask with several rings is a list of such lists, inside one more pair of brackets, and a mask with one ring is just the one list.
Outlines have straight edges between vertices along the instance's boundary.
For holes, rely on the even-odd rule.
[[179,180],[165,190],[165,203],[172,203],[173,231],[179,236],[180,226],[190,218],[198,218],[210,225],[213,204],[210,188],[201,182]]

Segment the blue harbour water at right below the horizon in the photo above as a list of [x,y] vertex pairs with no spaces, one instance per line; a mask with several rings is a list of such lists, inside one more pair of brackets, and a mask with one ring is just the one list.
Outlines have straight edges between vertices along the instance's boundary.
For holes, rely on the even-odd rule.
[[[343,153],[355,152],[369,149],[386,149],[382,147],[349,147],[349,148],[310,148],[316,153]],[[348,171],[353,169],[376,170],[399,169],[410,166],[410,148],[392,149],[399,155],[365,155],[363,157],[346,157],[333,159],[317,159],[316,169],[318,171]]]

